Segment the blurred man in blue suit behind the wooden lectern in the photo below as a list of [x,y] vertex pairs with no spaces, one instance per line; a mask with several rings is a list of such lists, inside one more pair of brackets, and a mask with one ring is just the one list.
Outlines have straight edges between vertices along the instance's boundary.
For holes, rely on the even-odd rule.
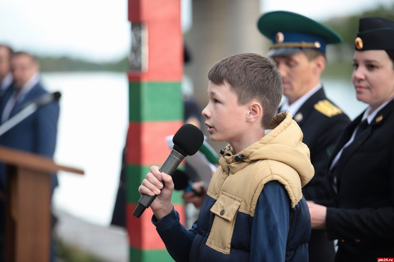
[[[26,104],[48,94],[40,83],[39,62],[33,55],[17,52],[11,57],[13,85],[7,89],[0,107],[1,124],[15,116]],[[59,118],[58,101],[44,105],[0,136],[0,146],[24,150],[52,158],[56,146]],[[51,176],[52,191],[58,185]],[[0,163],[0,190],[6,190],[6,166]],[[1,216],[4,216],[2,212]],[[54,259],[53,241],[51,260]]]

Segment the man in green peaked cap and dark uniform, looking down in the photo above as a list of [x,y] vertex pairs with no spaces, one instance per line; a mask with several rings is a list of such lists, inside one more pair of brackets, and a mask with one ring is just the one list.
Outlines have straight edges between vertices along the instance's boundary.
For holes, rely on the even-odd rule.
[[[325,96],[320,76],[327,62],[327,44],[340,43],[342,38],[319,22],[287,11],[263,14],[257,26],[272,41],[268,57],[277,63],[282,75],[287,99],[279,112],[292,114],[310,149],[315,175],[304,186],[303,195],[309,201],[330,205],[327,163],[333,145],[350,120]],[[334,243],[326,232],[312,230],[309,261],[332,262],[334,258]]]

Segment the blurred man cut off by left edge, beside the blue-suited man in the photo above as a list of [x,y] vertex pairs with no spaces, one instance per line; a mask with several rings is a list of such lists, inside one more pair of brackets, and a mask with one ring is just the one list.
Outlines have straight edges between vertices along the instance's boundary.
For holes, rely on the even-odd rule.
[[13,53],[11,47],[0,44],[0,107],[3,95],[12,83],[10,61]]

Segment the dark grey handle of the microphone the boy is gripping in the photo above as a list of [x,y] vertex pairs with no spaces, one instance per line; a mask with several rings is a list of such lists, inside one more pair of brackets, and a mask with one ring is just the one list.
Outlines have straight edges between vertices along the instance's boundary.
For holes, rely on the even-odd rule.
[[[159,169],[160,172],[166,173],[167,175],[172,175],[184,158],[185,157],[182,154],[172,149],[167,159],[165,159],[162,167]],[[164,188],[164,181],[161,180],[160,182],[163,184]],[[148,196],[146,194],[142,194],[138,201],[138,206],[133,212],[133,215],[139,218],[145,209],[147,209],[152,204],[156,197],[157,195]]]

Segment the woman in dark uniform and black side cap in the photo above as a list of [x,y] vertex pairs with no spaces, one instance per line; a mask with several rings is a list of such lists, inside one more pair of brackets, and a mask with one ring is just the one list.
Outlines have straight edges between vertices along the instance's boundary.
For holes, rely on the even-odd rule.
[[394,257],[394,21],[361,18],[352,81],[368,104],[329,162],[336,206],[308,203],[312,228],[338,240],[335,261]]

